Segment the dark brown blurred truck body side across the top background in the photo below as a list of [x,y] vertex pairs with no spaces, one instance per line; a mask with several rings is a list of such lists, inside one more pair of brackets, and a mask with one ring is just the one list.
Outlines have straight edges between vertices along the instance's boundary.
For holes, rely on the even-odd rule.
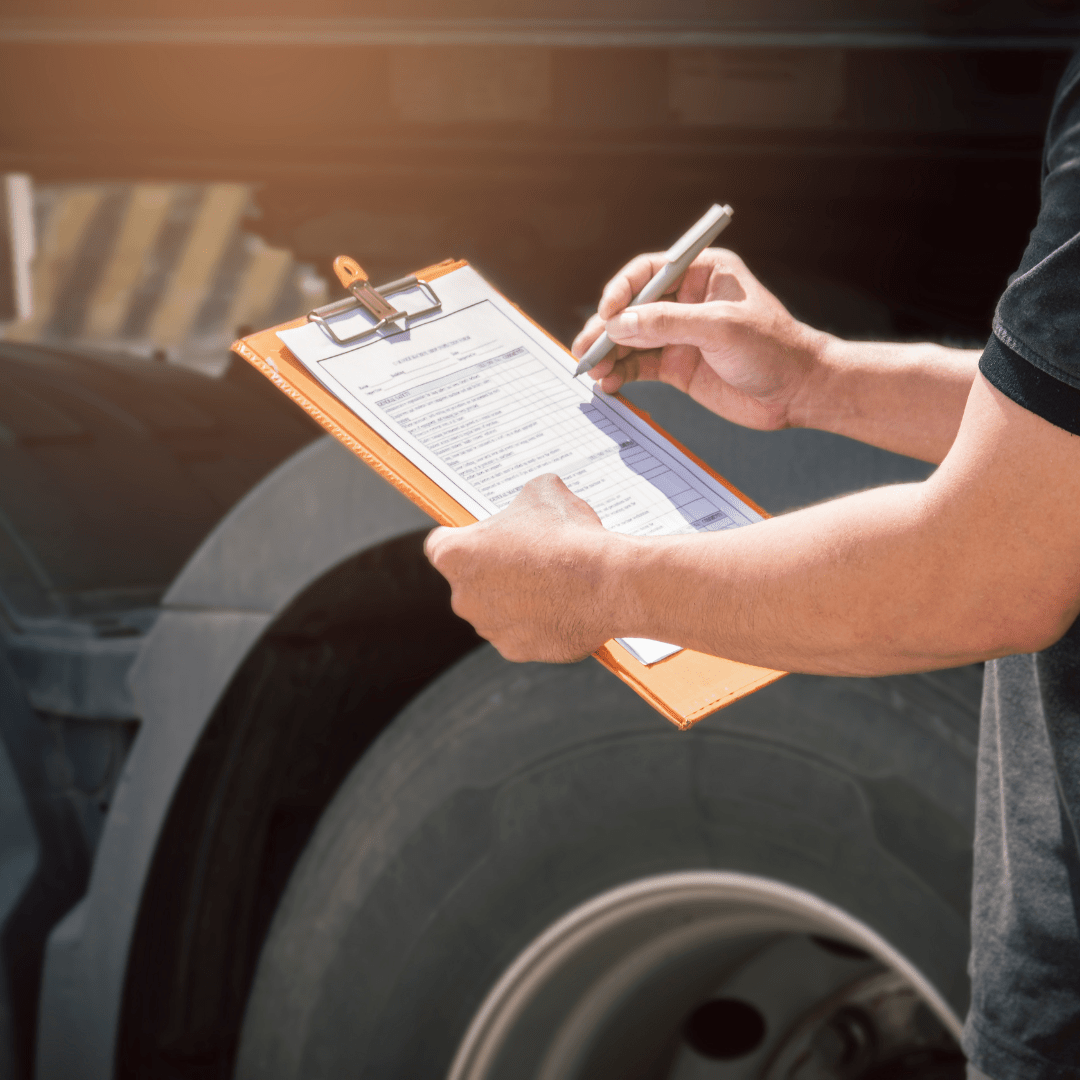
[[720,198],[752,267],[980,337],[1078,41],[1074,4],[1035,0],[19,0],[0,167],[255,180],[260,229],[300,258],[392,280],[467,257],[564,336]]

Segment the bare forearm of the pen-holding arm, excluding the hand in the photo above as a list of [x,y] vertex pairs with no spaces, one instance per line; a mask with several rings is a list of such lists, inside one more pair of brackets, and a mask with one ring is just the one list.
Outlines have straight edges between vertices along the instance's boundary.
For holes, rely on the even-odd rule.
[[978,357],[978,350],[821,335],[791,422],[937,463],[956,438]]

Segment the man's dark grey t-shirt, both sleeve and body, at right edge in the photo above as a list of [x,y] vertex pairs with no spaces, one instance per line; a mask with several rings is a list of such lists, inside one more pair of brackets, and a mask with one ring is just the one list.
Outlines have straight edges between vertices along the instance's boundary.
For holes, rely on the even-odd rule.
[[[1051,114],[1039,220],[980,369],[1080,435],[1080,54]],[[994,1080],[1080,1078],[1078,829],[1080,620],[1042,652],[986,665],[963,1049]]]

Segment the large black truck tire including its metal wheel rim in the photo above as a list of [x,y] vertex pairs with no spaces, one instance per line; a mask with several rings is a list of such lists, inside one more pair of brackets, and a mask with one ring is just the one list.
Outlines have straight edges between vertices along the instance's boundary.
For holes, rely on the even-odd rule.
[[962,1076],[977,678],[789,676],[679,732],[476,650],[324,813],[235,1076]]

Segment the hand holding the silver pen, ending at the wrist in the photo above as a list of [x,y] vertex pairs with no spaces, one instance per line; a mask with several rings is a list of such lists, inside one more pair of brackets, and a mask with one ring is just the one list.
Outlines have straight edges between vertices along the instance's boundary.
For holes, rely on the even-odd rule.
[[715,247],[694,259],[672,300],[626,308],[664,258],[639,255],[620,270],[573,342],[577,356],[605,328],[617,342],[591,373],[600,389],[659,380],[747,428],[801,426],[799,400],[828,335],[792,316],[738,255]]

